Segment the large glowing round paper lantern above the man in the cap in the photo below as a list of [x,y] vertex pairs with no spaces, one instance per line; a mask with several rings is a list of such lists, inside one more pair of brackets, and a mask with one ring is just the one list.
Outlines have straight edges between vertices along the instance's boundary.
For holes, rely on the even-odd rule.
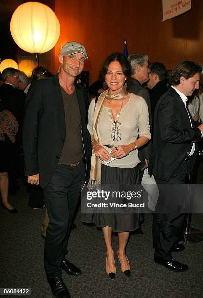
[[53,10],[47,5],[27,2],[14,11],[10,30],[21,49],[41,54],[55,46],[60,35],[60,24]]

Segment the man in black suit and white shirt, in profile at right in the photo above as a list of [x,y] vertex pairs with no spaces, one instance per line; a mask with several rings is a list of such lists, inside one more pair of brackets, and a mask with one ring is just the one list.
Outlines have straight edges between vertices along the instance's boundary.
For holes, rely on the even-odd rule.
[[[159,188],[153,218],[154,261],[174,271],[188,267],[172,258],[184,221],[186,196],[180,185],[186,183],[197,154],[196,142],[203,135],[203,124],[195,128],[186,107],[187,96],[199,88],[201,67],[191,61],[178,63],[171,72],[171,88],[160,98],[155,109],[154,138],[148,171]],[[178,186],[177,186],[178,185]]]

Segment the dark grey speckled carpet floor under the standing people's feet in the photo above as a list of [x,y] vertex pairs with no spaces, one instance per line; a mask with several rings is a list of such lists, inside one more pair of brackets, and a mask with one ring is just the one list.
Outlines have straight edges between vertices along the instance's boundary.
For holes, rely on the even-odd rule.
[[[40,235],[43,210],[33,211],[27,206],[28,195],[21,184],[10,202],[18,214],[0,208],[0,287],[30,287],[31,297],[53,297],[43,267],[44,240]],[[116,259],[114,280],[105,272],[105,245],[101,231],[86,226],[78,214],[69,242],[68,258],[81,268],[83,274],[63,279],[72,298],[202,298],[203,297],[203,241],[185,244],[185,251],[174,253],[174,258],[186,262],[189,270],[175,273],[153,262],[152,215],[145,215],[144,235],[131,237],[127,256],[131,277],[121,273]],[[192,225],[203,231],[203,214],[192,217]],[[118,238],[113,238],[116,251]],[[2,296],[8,297],[8,296]],[[9,296],[17,297],[17,296]]]

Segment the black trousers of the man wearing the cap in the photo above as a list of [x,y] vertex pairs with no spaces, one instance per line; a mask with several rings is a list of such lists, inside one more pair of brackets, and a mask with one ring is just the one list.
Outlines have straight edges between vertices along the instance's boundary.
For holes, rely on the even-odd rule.
[[60,266],[67,254],[70,228],[84,179],[83,163],[75,167],[60,164],[44,189],[50,221],[44,247],[44,267],[48,277],[62,274]]

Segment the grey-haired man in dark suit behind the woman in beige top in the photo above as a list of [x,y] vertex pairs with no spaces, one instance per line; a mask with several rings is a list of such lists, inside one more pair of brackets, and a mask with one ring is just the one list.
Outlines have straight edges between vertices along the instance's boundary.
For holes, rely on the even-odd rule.
[[[151,129],[151,104],[148,90],[142,87],[142,84],[149,80],[148,56],[143,54],[131,54],[128,56],[128,61],[131,65],[132,75],[127,85],[127,90],[131,93],[143,97],[147,103],[149,111],[149,124]],[[148,176],[147,170],[148,161],[151,154],[151,142],[138,150],[138,157],[141,161],[139,164],[140,176],[143,181]],[[133,231],[130,235],[143,235],[141,228]]]

